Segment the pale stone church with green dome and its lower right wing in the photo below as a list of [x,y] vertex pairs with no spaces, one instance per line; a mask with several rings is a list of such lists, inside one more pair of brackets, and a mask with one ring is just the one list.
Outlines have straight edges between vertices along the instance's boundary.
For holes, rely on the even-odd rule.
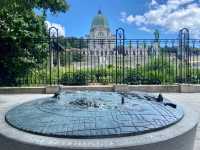
[[[156,37],[159,39],[158,35],[155,35],[155,38]],[[88,39],[88,48],[82,49],[84,54],[101,57],[114,56],[117,52],[118,55],[122,55],[119,48],[116,50],[116,37],[112,34],[108,20],[102,14],[101,10],[99,10],[97,15],[93,18],[90,33],[86,35],[86,39]],[[148,45],[146,47],[144,46],[144,43],[141,42],[138,43],[138,45],[134,41],[130,42],[131,46],[127,45],[127,43],[124,45],[125,55],[132,55],[132,57],[158,55],[159,42],[156,39],[150,45],[146,43]],[[102,62],[106,62],[106,60],[102,60]]]

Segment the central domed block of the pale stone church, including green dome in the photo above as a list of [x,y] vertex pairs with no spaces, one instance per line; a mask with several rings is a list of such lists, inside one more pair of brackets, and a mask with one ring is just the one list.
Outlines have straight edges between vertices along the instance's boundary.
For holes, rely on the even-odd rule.
[[115,36],[111,33],[108,20],[101,10],[94,17],[87,36],[92,55],[108,55],[114,49]]

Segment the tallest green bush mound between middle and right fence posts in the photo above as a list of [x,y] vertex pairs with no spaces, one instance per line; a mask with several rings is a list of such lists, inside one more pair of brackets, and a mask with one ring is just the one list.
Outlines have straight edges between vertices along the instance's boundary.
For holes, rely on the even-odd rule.
[[175,65],[166,58],[151,58],[149,62],[138,69],[128,71],[125,78],[127,84],[163,84],[175,83]]

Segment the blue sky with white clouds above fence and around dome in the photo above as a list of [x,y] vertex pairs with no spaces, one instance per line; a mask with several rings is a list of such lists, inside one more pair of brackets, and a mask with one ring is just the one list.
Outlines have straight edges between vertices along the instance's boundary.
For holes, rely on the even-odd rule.
[[182,27],[199,37],[200,5],[198,0],[68,0],[65,14],[47,21],[60,24],[66,36],[83,37],[89,33],[93,17],[99,9],[107,17],[111,31],[123,27],[127,38],[153,38],[160,30],[161,38],[176,38]]

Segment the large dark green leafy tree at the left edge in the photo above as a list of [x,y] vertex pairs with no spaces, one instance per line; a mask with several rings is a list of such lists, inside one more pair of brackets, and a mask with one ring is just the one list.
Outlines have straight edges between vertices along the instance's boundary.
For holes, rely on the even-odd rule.
[[[48,32],[46,11],[66,12],[65,0],[0,1],[0,85],[17,85],[17,80],[44,63]],[[36,15],[39,9],[42,15]]]

